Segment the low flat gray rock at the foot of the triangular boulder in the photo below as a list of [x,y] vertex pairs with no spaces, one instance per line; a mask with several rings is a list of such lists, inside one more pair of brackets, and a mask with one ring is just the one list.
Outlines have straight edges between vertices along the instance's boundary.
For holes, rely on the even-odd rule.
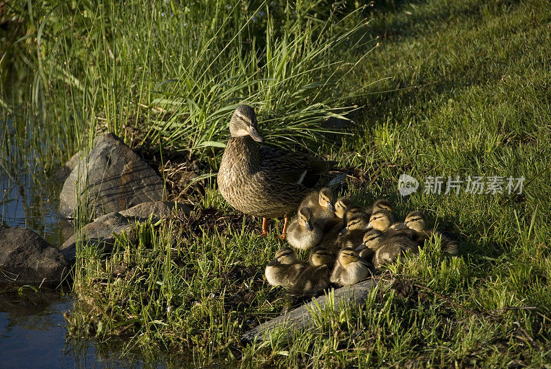
[[[125,231],[129,235],[132,226],[136,222],[145,222],[149,218],[149,215],[153,215],[152,221],[157,222],[161,218],[170,215],[175,207],[178,211],[183,211],[188,215],[191,212],[189,206],[179,202],[144,202],[121,213],[114,211],[101,215],[94,222],[83,226],[77,234],[80,235],[83,242],[94,244],[98,249],[102,249],[103,252],[110,253],[115,244],[115,235],[120,235]],[[76,234],[63,243],[61,253],[63,253],[69,262],[76,260]]]

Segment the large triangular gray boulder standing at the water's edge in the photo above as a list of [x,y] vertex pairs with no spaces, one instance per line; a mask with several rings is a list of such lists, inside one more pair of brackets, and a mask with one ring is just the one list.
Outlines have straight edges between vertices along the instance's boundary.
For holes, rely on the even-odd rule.
[[[59,195],[59,213],[74,216],[77,206],[94,217],[163,200],[163,179],[114,134],[98,140],[70,173]],[[85,200],[85,203],[82,201]]]

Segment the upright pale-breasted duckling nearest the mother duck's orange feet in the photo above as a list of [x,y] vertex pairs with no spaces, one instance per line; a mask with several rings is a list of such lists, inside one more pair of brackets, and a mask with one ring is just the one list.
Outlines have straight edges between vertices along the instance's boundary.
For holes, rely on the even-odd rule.
[[323,238],[323,229],[315,221],[309,207],[298,209],[297,217],[289,224],[287,240],[295,249],[308,250],[319,244]]

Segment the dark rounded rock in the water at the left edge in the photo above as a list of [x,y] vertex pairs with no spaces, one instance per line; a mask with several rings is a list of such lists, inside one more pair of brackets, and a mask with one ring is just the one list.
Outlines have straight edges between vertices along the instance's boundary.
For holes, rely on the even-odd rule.
[[57,286],[69,268],[61,252],[37,233],[0,225],[0,283]]

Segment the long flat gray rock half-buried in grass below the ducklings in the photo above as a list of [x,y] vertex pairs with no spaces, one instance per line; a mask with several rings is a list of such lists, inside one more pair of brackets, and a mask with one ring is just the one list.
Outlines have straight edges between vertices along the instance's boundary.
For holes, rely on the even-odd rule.
[[[333,299],[333,306],[336,307],[338,304],[342,304],[346,301],[353,302],[357,305],[364,304],[374,284],[375,282],[370,279],[354,284],[353,286],[346,286],[333,290],[335,296],[335,299]],[[285,330],[286,337],[291,338],[295,333],[308,329],[312,324],[313,314],[317,314],[320,310],[324,310],[330,301],[331,300],[329,300],[326,295],[320,296],[308,304],[299,306],[277,318],[260,324],[260,326],[256,326],[242,335],[240,339],[245,344],[253,341],[260,342],[274,329]]]

